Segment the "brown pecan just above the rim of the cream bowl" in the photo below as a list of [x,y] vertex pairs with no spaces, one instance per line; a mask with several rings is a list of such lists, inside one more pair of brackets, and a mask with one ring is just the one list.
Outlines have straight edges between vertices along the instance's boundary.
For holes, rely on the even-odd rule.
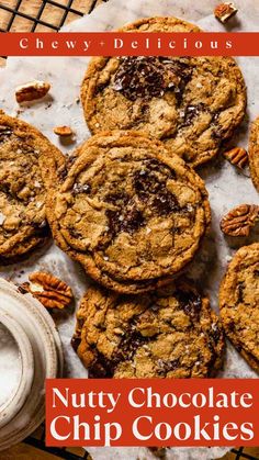
[[71,288],[50,273],[37,271],[31,273],[29,280],[30,282],[23,283],[20,288],[30,292],[46,308],[64,308],[74,298]]

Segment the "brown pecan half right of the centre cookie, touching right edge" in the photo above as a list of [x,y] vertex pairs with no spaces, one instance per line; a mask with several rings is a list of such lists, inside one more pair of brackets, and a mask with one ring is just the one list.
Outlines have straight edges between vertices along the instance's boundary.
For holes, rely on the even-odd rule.
[[240,204],[230,210],[221,221],[221,229],[229,236],[248,236],[259,220],[259,206]]

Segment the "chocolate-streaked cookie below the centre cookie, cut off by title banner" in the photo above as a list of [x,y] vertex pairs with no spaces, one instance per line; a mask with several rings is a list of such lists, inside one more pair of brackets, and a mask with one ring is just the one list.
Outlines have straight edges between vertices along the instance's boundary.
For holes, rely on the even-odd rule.
[[206,378],[224,338],[209,300],[183,281],[142,296],[90,288],[72,345],[90,378]]

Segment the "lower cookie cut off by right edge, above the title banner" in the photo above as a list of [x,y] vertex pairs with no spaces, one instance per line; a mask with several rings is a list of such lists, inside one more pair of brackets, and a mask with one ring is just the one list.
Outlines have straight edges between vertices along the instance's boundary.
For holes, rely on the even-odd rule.
[[228,265],[219,290],[226,335],[259,371],[259,243],[241,247]]

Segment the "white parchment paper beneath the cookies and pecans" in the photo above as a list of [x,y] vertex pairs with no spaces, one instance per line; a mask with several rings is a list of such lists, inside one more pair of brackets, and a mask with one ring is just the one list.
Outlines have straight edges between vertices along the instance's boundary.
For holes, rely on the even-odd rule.
[[[116,29],[125,22],[134,21],[148,15],[178,15],[185,20],[196,22],[207,31],[224,31],[213,14],[215,1],[200,0],[193,9],[192,0],[128,0],[121,10],[121,0],[110,0],[100,5],[90,16],[85,16],[69,26],[66,31],[105,31]],[[236,2],[239,7],[237,19],[232,22],[233,31],[257,31],[259,23],[259,5],[252,1]],[[229,27],[228,27],[229,29]],[[248,87],[248,113],[230,146],[247,147],[248,124],[259,115],[259,58],[238,58]],[[77,57],[11,57],[7,68],[1,69],[0,106],[8,114],[19,116],[40,128],[65,154],[72,150],[82,141],[90,136],[78,101],[80,83],[88,65],[89,58]],[[26,104],[21,108],[15,102],[14,91],[18,85],[32,79],[47,80],[52,83],[52,91],[44,100]],[[61,144],[53,133],[55,125],[69,125],[76,132],[76,141]],[[210,166],[199,170],[205,180],[212,206],[212,228],[195,261],[189,269],[189,276],[201,284],[210,296],[212,306],[217,311],[218,284],[225,271],[227,261],[235,250],[245,244],[258,240],[259,232],[254,231],[249,238],[225,239],[218,226],[221,216],[233,206],[247,202],[258,204],[258,193],[249,178],[249,171],[237,171],[226,160],[218,157]],[[35,253],[30,260],[19,266],[10,266],[0,271],[0,276],[13,282],[23,282],[27,274],[35,270],[47,270],[64,279],[72,287],[76,296],[76,307],[87,289],[88,281],[82,269],[63,254],[54,244]],[[75,311],[59,312],[55,321],[61,337],[65,359],[66,377],[83,378],[87,371],[80,363],[70,346],[70,338],[75,327]],[[227,344],[227,354],[221,378],[256,378],[236,350]],[[88,448],[95,460],[102,459],[148,459],[154,456],[143,448]],[[218,458],[222,449],[170,449],[168,459],[212,459]]]

